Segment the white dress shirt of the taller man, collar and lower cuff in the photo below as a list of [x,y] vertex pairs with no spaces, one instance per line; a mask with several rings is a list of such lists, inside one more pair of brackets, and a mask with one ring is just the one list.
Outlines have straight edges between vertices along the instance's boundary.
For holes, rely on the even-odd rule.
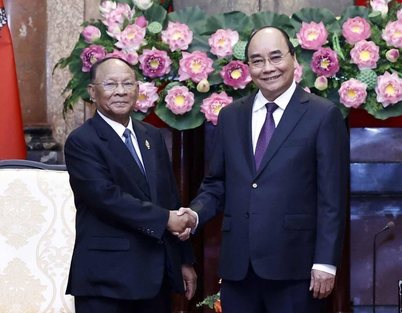
[[[282,118],[283,112],[285,111],[287,104],[292,97],[294,90],[296,89],[296,83],[293,80],[290,87],[278,96],[273,101],[268,101],[263,95],[261,90],[257,92],[254,98],[253,113],[251,117],[251,135],[253,140],[253,151],[255,153],[255,147],[257,146],[258,136],[260,135],[262,125],[265,122],[265,117],[267,115],[267,108],[265,107],[267,102],[275,102],[278,108],[272,113],[273,120],[275,122],[275,127],[278,126],[280,119]],[[286,249],[286,248],[284,248]],[[330,264],[313,264],[312,269],[317,269],[330,274],[336,274],[336,266]]]

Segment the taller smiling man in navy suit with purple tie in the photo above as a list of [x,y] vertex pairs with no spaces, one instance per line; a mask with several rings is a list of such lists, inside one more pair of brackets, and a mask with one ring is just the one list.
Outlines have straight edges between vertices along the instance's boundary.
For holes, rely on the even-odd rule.
[[283,30],[254,32],[246,53],[259,90],[220,112],[210,173],[190,207],[199,226],[224,212],[223,312],[319,312],[341,260],[347,129],[338,107],[294,82]]

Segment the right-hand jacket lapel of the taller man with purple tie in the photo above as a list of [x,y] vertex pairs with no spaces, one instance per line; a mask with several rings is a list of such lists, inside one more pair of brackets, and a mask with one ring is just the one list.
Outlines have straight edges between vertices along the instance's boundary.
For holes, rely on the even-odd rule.
[[308,100],[308,93],[303,90],[302,87],[297,85],[285,111],[283,112],[279,124],[276,127],[271,140],[269,141],[267,150],[265,151],[264,157],[262,158],[256,176],[258,176],[263,171],[263,169],[274,156],[283,141],[285,141],[287,136],[289,136],[290,132],[296,126],[297,122],[305,114],[307,106],[303,103],[307,102]]

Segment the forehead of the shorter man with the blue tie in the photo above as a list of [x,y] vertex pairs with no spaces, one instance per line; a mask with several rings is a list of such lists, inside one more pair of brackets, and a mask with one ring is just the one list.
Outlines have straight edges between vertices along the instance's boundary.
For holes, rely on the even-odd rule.
[[110,59],[100,64],[96,70],[96,80],[106,79],[136,79],[134,70],[126,63]]

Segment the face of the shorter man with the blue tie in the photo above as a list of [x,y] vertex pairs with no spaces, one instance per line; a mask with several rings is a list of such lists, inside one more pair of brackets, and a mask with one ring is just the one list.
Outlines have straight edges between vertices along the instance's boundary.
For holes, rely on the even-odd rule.
[[[135,82],[133,69],[126,63],[110,59],[100,64],[96,70],[95,83],[99,82]],[[133,90],[126,90],[121,83],[113,91],[105,90],[102,85],[89,84],[88,93],[95,103],[96,110],[127,127],[130,113],[134,110],[138,86]]]

